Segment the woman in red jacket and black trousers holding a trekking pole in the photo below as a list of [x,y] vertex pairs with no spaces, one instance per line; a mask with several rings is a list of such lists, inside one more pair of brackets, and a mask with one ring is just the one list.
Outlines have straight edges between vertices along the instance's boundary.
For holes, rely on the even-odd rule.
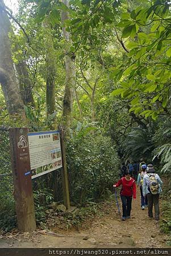
[[126,220],[126,218],[130,218],[131,216],[131,205],[132,205],[132,196],[134,200],[136,199],[136,185],[135,180],[131,177],[130,171],[126,171],[126,176],[122,177],[115,185],[114,188],[122,185],[122,189],[120,191],[120,197],[122,200],[122,220]]

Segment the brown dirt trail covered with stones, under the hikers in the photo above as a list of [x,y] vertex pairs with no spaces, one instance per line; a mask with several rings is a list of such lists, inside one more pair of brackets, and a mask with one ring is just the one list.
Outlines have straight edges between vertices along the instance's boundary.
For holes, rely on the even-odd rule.
[[57,236],[61,237],[54,236],[53,233],[40,232],[34,232],[30,237],[26,234],[15,239],[9,236],[8,239],[0,239],[0,247],[168,247],[168,237],[160,233],[159,222],[149,219],[147,211],[147,208],[141,210],[140,192],[137,189],[137,199],[132,201],[131,219],[120,220],[118,209],[112,204],[110,214],[97,217],[89,229],[57,232]]

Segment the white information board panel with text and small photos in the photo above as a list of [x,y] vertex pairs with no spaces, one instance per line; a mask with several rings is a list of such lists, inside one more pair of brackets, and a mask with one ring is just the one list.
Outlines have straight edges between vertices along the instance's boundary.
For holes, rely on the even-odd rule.
[[62,167],[59,131],[28,133],[31,177],[39,177]]

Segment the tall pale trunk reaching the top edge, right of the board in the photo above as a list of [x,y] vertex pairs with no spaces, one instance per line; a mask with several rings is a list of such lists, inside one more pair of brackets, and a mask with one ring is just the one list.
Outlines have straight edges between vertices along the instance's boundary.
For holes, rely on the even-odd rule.
[[[62,0],[64,5],[69,7],[69,0]],[[73,89],[76,83],[76,68],[75,68],[75,56],[69,51],[69,47],[72,44],[69,32],[66,31],[64,26],[65,20],[69,19],[67,11],[61,11],[62,33],[65,39],[65,91],[63,98],[63,113],[64,123],[66,127],[70,127],[72,121],[72,105],[73,105]]]

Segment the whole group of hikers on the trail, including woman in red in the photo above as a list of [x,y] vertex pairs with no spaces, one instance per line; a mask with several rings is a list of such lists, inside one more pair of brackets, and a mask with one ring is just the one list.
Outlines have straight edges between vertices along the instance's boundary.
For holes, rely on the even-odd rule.
[[155,208],[155,220],[159,220],[159,195],[162,181],[152,164],[146,164],[143,159],[134,164],[127,161],[122,164],[120,179],[114,188],[122,185],[120,198],[122,200],[122,220],[131,218],[132,197],[136,200],[136,181],[141,193],[141,209],[148,207],[148,216],[153,218],[153,205]]

